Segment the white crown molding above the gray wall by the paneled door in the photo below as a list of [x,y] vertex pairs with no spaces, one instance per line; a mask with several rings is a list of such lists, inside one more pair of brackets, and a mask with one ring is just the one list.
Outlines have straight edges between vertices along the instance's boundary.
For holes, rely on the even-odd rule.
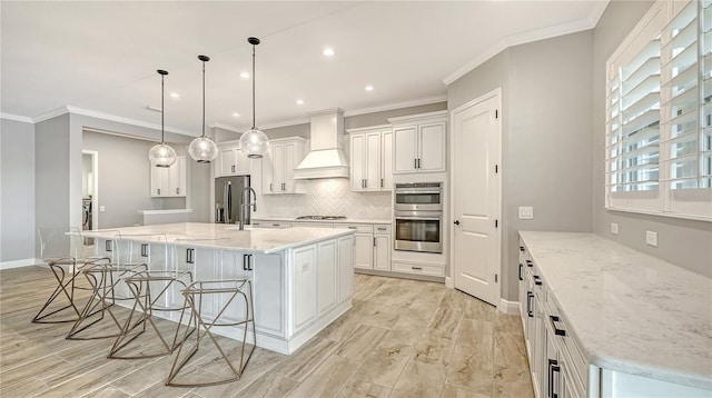
[[467,72],[469,72],[471,70],[485,63],[492,57],[498,54],[500,52],[506,50],[510,47],[525,44],[533,41],[551,39],[557,36],[564,36],[564,34],[570,34],[570,33],[593,29],[596,27],[596,24],[599,24],[599,20],[603,16],[603,12],[605,12],[605,9],[607,6],[609,6],[607,0],[595,1],[591,12],[584,19],[568,22],[568,23],[562,23],[562,24],[557,24],[557,26],[553,26],[544,29],[537,29],[537,30],[533,30],[522,34],[506,37],[500,40],[496,44],[492,46],[490,49],[485,50],[484,52],[481,52],[472,61],[467,62],[462,68],[457,69],[451,76],[443,79],[443,82],[446,86],[452,84],[455,80],[467,74]]

